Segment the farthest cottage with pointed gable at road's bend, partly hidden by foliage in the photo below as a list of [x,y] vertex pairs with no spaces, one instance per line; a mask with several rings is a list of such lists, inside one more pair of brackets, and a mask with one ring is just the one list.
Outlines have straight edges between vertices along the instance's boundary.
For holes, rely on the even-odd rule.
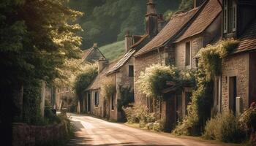
[[[97,44],[94,44],[93,47],[83,50],[81,56],[81,64],[94,64],[99,60],[99,58],[105,58],[105,56],[100,52]],[[52,88],[53,91],[53,88]],[[75,93],[70,86],[56,88],[55,98],[52,95],[50,99],[50,103],[53,104],[56,110],[61,110],[61,108],[68,108],[72,104],[70,103],[70,99],[75,100]],[[80,104],[78,101],[78,107],[75,107],[77,112],[83,111],[83,104]]]

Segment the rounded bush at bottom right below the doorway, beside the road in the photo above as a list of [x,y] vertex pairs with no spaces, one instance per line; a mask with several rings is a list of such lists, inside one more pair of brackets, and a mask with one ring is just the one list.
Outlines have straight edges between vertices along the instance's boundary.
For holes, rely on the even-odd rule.
[[238,118],[229,112],[208,120],[203,134],[205,139],[217,139],[222,142],[242,142],[244,136],[244,131],[238,126]]

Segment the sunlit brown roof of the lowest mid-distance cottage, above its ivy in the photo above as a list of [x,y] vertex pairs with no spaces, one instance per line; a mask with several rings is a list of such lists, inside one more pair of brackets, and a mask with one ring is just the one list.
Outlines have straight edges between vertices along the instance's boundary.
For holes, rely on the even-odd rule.
[[99,74],[97,75],[97,77],[94,79],[94,81],[91,83],[91,85],[89,86],[89,88],[86,89],[86,91],[89,90],[94,90],[94,89],[98,89],[101,88],[101,85],[103,84],[103,82],[105,81],[104,79],[106,78],[106,73],[108,72],[108,69],[110,69],[113,65],[116,64],[116,61],[108,64],[107,66],[105,66],[105,68],[102,70],[102,72],[99,72]]

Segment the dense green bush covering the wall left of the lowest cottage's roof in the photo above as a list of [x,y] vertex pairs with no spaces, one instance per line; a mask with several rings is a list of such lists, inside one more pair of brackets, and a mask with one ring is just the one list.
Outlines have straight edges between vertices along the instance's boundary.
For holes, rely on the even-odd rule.
[[79,100],[83,98],[84,90],[91,85],[91,82],[93,82],[95,77],[97,77],[97,66],[94,64],[88,65],[86,72],[78,74],[78,77],[75,79],[74,88],[75,94]]

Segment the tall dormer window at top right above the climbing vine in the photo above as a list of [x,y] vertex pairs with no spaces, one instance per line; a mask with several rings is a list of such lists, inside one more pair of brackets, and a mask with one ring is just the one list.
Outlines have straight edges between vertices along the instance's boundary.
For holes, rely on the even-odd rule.
[[235,0],[223,0],[223,33],[236,31],[237,9]]

